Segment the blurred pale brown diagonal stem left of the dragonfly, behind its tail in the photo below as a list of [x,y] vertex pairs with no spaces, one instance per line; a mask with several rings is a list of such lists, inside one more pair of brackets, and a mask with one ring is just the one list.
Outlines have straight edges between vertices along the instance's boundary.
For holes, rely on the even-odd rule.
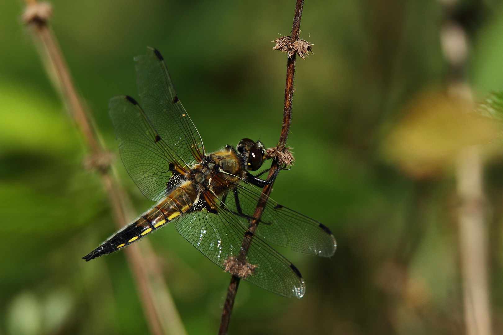
[[[91,155],[105,157],[107,152],[98,140],[96,130],[91,126],[91,116],[86,114],[56,38],[47,25],[51,14],[50,6],[46,3],[37,3],[36,0],[25,0],[25,3],[27,5],[24,15],[25,23],[33,29],[40,43],[40,56],[54,86],[87,142]],[[100,159],[89,161],[100,161]],[[129,199],[111,173],[111,162],[106,159],[105,162],[105,164],[95,164],[94,168],[101,175],[116,227],[121,228],[126,226],[135,215],[127,210]],[[150,332],[154,335],[185,335],[186,331],[164,283],[155,254],[149,247],[148,241],[143,241],[142,244],[142,248],[139,244],[131,245],[125,252]]]

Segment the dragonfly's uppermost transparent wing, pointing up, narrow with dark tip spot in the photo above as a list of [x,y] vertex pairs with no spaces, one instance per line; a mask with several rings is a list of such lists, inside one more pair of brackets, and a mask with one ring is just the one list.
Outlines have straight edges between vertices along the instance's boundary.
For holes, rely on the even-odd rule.
[[203,141],[178,98],[161,54],[149,47],[146,55],[135,60],[138,94],[152,127],[186,164],[201,161]]

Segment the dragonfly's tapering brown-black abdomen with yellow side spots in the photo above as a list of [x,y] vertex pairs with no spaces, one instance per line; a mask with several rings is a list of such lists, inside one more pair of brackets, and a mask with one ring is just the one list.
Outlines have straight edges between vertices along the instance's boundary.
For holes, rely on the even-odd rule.
[[197,193],[192,183],[188,182],[178,187],[164,200],[140,216],[136,221],[115,233],[101,246],[82,257],[82,259],[90,261],[130,245],[145,235],[163,227],[166,222],[185,213],[192,206],[196,198]]

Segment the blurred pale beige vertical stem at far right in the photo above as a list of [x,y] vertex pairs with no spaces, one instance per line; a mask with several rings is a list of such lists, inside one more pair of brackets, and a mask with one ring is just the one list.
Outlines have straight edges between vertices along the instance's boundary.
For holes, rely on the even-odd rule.
[[[441,0],[446,20],[441,29],[442,50],[450,66],[448,92],[452,98],[472,104],[471,89],[464,78],[468,39],[463,27],[453,17],[458,1]],[[460,113],[462,113],[460,111]],[[485,228],[482,160],[480,148],[463,148],[456,164],[459,248],[465,331],[467,335],[490,335],[491,315],[487,287],[487,233]]]

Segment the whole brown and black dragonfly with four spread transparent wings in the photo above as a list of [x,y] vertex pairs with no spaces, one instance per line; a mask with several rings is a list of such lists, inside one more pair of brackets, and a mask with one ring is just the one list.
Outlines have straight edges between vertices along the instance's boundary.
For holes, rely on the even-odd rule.
[[[174,224],[213,263],[243,280],[285,297],[301,298],[300,271],[269,244],[330,257],[336,239],[320,222],[269,198],[272,183],[252,171],[266,159],[261,141],[244,138],[206,153],[178,98],[166,64],[154,48],[135,57],[141,105],[131,96],[110,100],[110,117],[122,162],[135,184],[157,204],[82,257],[90,261],[124,249]],[[262,215],[254,217],[259,201]],[[262,201],[263,203],[264,201]],[[257,224],[250,230],[250,224]]]

